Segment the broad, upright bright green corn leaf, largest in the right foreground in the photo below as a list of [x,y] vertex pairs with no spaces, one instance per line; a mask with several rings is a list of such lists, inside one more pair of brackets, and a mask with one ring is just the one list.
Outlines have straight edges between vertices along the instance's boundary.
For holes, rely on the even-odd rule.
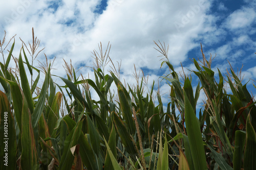
[[186,130],[194,166],[195,169],[207,169],[203,139],[198,124],[198,119],[184,90],[183,92],[185,101]]

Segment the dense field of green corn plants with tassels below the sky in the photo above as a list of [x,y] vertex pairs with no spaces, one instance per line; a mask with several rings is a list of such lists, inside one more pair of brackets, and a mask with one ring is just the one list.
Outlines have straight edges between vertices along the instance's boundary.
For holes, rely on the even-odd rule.
[[[14,37],[8,56],[4,43],[5,37],[0,41],[0,169],[256,169],[256,102],[231,65],[226,75],[214,72],[203,50],[202,60],[191,61],[196,70],[185,75],[168,61],[165,44],[155,42],[161,66],[169,70],[160,78],[170,88],[164,110],[161,95],[153,96],[154,83],[145,93],[144,77],[129,85],[121,83],[114,66],[106,73],[109,46],[105,53],[101,45],[93,52],[91,80],[66,61],[67,79],[51,75],[50,62],[34,66],[41,52],[34,32],[18,58],[12,55]],[[192,82],[192,75],[199,82]],[[200,91],[206,98],[197,108]]]

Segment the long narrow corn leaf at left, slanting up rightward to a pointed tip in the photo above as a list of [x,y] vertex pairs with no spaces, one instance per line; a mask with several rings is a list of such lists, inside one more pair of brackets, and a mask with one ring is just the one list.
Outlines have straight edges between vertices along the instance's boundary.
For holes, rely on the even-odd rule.
[[39,120],[39,118],[42,114],[42,111],[45,108],[46,95],[47,95],[49,81],[50,81],[50,67],[51,66],[49,66],[49,70],[46,74],[45,81],[42,84],[41,92],[40,92],[38,101],[36,103],[34,113],[32,114],[32,126],[33,126],[33,128],[36,127],[36,125],[38,123],[38,120]]

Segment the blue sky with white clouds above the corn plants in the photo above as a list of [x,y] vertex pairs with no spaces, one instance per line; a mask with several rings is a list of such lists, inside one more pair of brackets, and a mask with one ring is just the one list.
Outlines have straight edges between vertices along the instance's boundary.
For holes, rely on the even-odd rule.
[[[215,72],[219,68],[224,74],[229,61],[235,70],[243,65],[245,83],[256,80],[256,1],[13,0],[0,2],[0,16],[0,39],[4,31],[7,40],[16,34],[15,57],[22,46],[19,38],[25,43],[32,42],[34,28],[40,40],[38,50],[45,47],[34,65],[45,62],[45,55],[51,60],[56,57],[52,75],[67,78],[63,59],[68,63],[71,59],[80,74],[88,78],[89,73],[93,79],[91,52],[99,52],[100,42],[105,50],[110,42],[110,58],[116,67],[121,61],[121,80],[129,84],[136,82],[135,65],[137,71],[142,69],[148,75],[148,87],[154,80],[156,84],[159,82],[163,102],[168,103],[170,87],[159,77],[169,70],[166,65],[160,68],[161,57],[157,57],[160,53],[154,49],[157,48],[154,41],[160,41],[169,45],[168,58],[177,72],[181,63],[188,74],[188,69],[196,69],[190,59],[201,59],[202,43],[206,58],[210,54],[216,56],[212,62]],[[105,67],[106,73],[111,70],[110,65]],[[55,81],[64,84],[58,78]],[[195,77],[194,88],[197,83]],[[256,95],[254,87],[250,90]]]

